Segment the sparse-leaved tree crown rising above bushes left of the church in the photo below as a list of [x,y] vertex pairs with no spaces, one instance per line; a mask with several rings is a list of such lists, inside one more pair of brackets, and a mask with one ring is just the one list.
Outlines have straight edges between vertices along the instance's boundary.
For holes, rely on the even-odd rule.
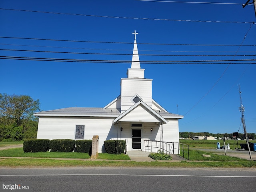
[[4,124],[22,124],[22,120],[32,120],[33,112],[40,110],[39,100],[28,95],[8,95],[0,93],[0,120]]

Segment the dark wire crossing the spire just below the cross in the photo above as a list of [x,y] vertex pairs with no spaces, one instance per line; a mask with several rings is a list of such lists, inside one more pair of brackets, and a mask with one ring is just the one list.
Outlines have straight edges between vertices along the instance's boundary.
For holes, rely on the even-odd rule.
[[[134,44],[133,42],[106,42],[106,41],[85,41],[85,40],[64,40],[64,39],[43,39],[43,38],[26,38],[26,37],[6,37],[0,36],[0,38],[11,39],[27,39],[27,40],[47,40],[47,41],[67,41],[67,42],[86,42],[86,43],[114,43],[114,44]],[[188,45],[188,46],[256,46],[256,44],[238,45],[238,44],[171,44],[171,43],[137,43],[146,45]]]

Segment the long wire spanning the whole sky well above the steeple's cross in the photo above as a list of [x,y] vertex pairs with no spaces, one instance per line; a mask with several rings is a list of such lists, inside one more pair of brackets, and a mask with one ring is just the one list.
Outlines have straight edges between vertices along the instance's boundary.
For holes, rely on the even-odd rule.
[[87,15],[87,14],[74,14],[74,13],[58,13],[58,12],[48,12],[48,11],[33,11],[33,10],[7,9],[7,8],[0,8],[0,10],[24,11],[24,12],[36,12],[36,13],[48,13],[48,14],[63,14],[63,15],[74,15],[74,16],[90,16],[90,17],[100,17],[100,18],[136,19],[136,20],[255,24],[254,22],[238,22],[238,21],[207,21],[207,20],[204,21],[204,20],[182,20],[182,19],[158,19],[158,18],[136,18],[136,17],[100,16],[100,15]]

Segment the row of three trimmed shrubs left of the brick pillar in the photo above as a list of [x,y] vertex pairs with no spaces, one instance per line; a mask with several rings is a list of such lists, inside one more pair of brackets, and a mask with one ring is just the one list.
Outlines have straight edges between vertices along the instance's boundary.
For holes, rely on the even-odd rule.
[[72,139],[26,139],[23,143],[24,152],[83,152],[90,153],[92,140]]

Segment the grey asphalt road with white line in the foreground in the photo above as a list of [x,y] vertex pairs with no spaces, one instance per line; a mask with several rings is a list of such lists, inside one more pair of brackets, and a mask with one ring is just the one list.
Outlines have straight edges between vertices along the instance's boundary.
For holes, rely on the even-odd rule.
[[[255,169],[0,168],[0,191],[26,184],[33,192],[255,192]],[[4,186],[3,186],[4,184]]]

